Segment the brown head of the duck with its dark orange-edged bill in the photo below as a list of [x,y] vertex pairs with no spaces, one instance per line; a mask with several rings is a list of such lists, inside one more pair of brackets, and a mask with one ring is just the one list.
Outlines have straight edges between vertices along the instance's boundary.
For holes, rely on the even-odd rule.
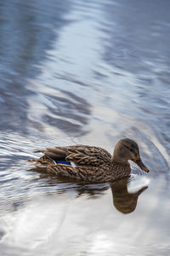
[[132,160],[145,172],[150,172],[142,162],[139,154],[139,146],[133,140],[125,138],[116,143],[113,160],[120,164],[126,164],[127,160]]

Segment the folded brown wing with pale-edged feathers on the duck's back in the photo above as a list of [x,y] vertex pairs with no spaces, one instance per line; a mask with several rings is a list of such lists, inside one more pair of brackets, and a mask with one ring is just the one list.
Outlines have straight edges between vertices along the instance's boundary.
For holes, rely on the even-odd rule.
[[77,166],[101,166],[111,161],[111,154],[104,148],[86,145],[46,148],[37,150],[52,160],[66,160]]

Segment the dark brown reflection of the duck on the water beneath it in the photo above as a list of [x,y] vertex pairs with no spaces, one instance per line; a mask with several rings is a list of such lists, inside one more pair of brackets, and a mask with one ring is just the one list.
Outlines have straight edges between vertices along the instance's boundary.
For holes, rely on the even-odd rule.
[[57,190],[57,193],[59,194],[68,193],[69,190],[75,190],[77,197],[88,195],[89,198],[96,198],[104,195],[105,191],[111,188],[113,205],[116,207],[116,210],[124,214],[134,212],[138,203],[139,195],[148,188],[148,186],[143,186],[138,191],[129,193],[127,189],[129,177],[122,178],[115,183],[71,183],[70,179],[67,180],[62,177],[54,177],[51,174],[46,174],[42,172],[41,168],[31,169],[31,171],[41,172],[38,179],[41,179],[42,181],[45,178],[45,182],[42,182],[43,187],[53,186],[55,192]]

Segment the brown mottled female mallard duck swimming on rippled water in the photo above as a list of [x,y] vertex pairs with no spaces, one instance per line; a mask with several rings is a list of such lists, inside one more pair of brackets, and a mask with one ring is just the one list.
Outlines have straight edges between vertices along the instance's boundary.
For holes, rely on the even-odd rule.
[[44,155],[36,160],[47,172],[75,180],[104,183],[127,177],[131,172],[128,160],[133,160],[145,172],[139,155],[139,147],[125,138],[116,143],[113,155],[103,148],[74,145],[37,150]]

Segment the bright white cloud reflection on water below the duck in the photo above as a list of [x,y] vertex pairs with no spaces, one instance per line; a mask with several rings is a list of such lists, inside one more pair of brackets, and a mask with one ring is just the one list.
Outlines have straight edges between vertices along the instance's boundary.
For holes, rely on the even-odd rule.
[[[160,185],[153,190],[155,182]],[[26,207],[3,217],[5,236],[1,244],[21,247],[29,255],[165,252],[168,227],[160,213],[170,208],[157,208],[156,193],[159,195],[162,183],[163,179],[152,181],[150,193],[141,195],[135,214],[129,215],[121,215],[112,207],[111,190],[94,200],[85,195],[35,195]],[[157,247],[160,239],[161,247]]]

